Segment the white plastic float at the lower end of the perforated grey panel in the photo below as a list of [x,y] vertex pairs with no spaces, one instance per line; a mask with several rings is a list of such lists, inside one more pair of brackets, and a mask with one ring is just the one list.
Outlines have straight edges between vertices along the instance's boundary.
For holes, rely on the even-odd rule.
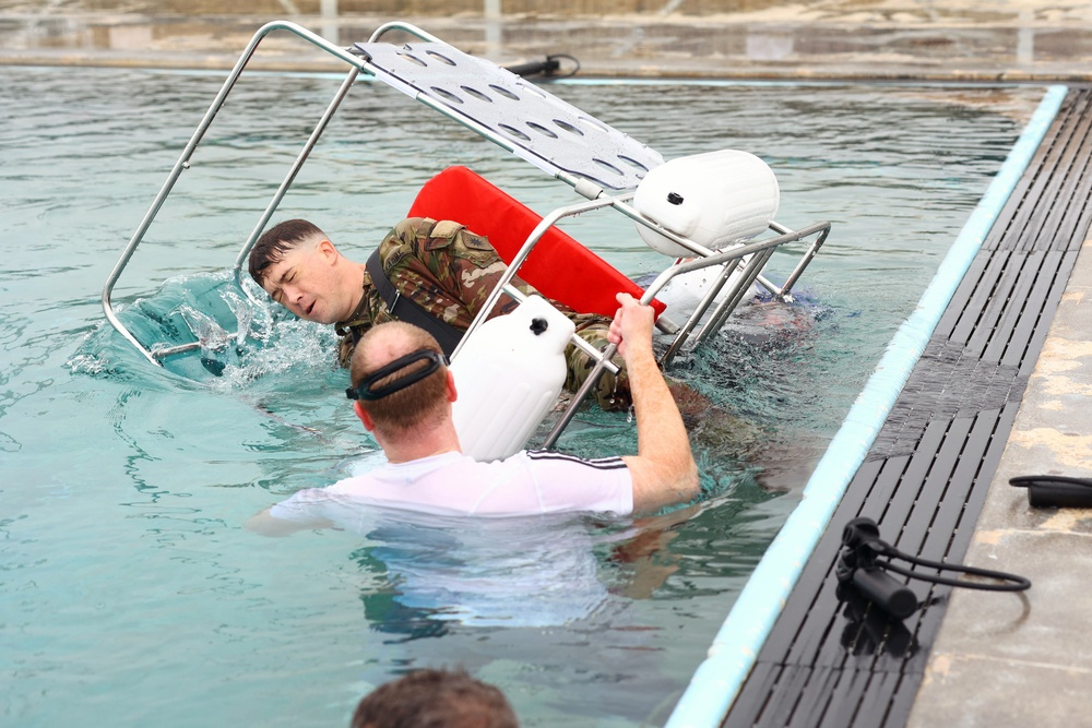
[[[716,250],[770,227],[781,191],[769,165],[749,152],[721,150],[678,157],[652,169],[633,207],[672,232]],[[638,224],[645,243],[665,255],[693,253]]]

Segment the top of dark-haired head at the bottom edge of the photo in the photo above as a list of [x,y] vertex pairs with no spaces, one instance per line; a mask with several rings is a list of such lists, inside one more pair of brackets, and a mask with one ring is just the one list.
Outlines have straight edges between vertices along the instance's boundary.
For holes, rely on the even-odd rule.
[[351,728],[518,728],[508,699],[464,670],[415,670],[356,706]]

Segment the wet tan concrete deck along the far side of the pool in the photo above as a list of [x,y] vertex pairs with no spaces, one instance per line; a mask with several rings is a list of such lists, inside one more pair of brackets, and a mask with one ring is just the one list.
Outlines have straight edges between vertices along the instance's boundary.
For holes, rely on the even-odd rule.
[[[615,10],[595,14],[596,2]],[[0,62],[230,68],[253,32],[271,20],[298,22],[347,46],[396,19],[498,63],[569,53],[584,75],[1092,81],[1092,4],[1080,0],[952,0],[943,7],[921,0],[665,0],[660,12],[643,14],[617,10],[624,2],[587,0],[580,3],[584,15],[557,0],[534,3],[534,13],[513,13],[518,3],[506,0],[507,14],[491,20],[482,12],[379,14],[382,0],[342,0],[343,9],[366,4],[369,11],[337,15],[319,12],[319,0],[238,0],[230,3],[232,13],[164,10],[218,4],[0,0]],[[561,7],[551,10],[554,4]],[[691,4],[705,12],[687,14]],[[322,5],[337,2],[322,0]],[[712,13],[712,7],[745,10]],[[324,55],[275,38],[253,62],[339,68]]]

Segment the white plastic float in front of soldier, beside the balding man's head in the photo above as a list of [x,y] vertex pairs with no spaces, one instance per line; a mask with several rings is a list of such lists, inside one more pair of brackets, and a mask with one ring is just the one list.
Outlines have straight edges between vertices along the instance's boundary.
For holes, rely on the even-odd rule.
[[541,296],[475,330],[451,362],[459,397],[455,431],[476,461],[522,450],[565,385],[565,348],[574,326]]

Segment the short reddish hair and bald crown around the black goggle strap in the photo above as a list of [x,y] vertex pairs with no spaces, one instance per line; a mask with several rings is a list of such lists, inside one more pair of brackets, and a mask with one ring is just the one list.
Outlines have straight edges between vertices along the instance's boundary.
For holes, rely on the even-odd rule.
[[[382,355],[376,351],[381,343],[387,343],[389,347]],[[353,389],[358,389],[360,382],[379,368],[401,356],[422,349],[442,354],[440,345],[432,335],[413,324],[389,321],[372,326],[360,337],[353,351],[353,361],[349,365]],[[429,361],[425,359],[407,363],[378,382],[372,382],[371,389],[381,390],[427,366]],[[360,406],[371,416],[376,428],[384,433],[411,430],[420,425],[438,421],[448,401],[447,372],[448,368],[441,366],[420,381],[381,399],[361,401]]]

